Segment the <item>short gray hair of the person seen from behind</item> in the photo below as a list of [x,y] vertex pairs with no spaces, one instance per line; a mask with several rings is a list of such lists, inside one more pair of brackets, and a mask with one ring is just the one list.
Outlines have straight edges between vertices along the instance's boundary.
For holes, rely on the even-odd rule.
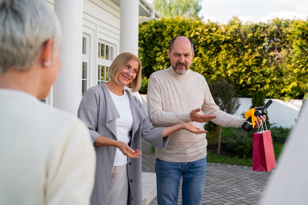
[[0,74],[32,67],[44,43],[61,47],[61,25],[44,0],[0,0]]

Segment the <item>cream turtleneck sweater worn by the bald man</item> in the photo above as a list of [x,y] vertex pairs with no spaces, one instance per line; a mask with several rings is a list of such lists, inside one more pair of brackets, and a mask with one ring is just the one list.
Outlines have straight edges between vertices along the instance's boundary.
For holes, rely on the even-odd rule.
[[[148,112],[154,125],[170,126],[191,122],[190,112],[201,108],[205,115],[216,115],[212,121],[227,127],[241,127],[245,118],[235,117],[219,109],[205,78],[191,70],[178,74],[172,67],[150,76]],[[203,123],[191,122],[204,130]],[[208,130],[210,131],[210,130]],[[196,135],[180,130],[169,136],[166,148],[155,149],[155,156],[169,162],[192,162],[207,155],[206,134]]]

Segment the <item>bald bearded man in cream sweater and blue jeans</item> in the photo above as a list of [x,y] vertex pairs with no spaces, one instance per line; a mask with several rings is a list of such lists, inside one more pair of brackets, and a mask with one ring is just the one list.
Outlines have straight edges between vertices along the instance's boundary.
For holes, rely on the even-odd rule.
[[[191,122],[204,130],[203,122],[241,127],[245,118],[234,117],[219,109],[208,84],[199,73],[189,70],[194,57],[193,43],[179,36],[170,41],[171,67],[150,76],[147,102],[149,117],[157,126]],[[203,114],[199,112],[202,111]],[[265,117],[261,117],[265,120]],[[261,122],[258,117],[257,128]],[[187,137],[189,136],[189,137]],[[182,203],[201,205],[206,175],[206,134],[178,131],[169,136],[164,150],[156,148],[155,171],[158,205],[177,205],[181,177]]]

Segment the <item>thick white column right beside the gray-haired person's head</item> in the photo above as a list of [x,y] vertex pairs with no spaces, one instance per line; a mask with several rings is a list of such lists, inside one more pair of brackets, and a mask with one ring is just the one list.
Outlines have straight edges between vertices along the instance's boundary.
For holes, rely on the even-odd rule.
[[53,105],[77,116],[82,95],[83,0],[55,0],[62,27],[62,70],[54,84]]

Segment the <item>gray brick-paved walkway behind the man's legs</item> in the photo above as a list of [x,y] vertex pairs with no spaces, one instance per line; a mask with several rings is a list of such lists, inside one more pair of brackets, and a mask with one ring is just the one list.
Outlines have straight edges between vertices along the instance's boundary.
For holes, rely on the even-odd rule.
[[[151,144],[143,140],[142,171],[155,172]],[[202,205],[258,205],[269,177],[275,172],[255,172],[251,167],[207,164]],[[157,198],[150,203],[157,205]],[[182,205],[180,188],[178,205]]]

